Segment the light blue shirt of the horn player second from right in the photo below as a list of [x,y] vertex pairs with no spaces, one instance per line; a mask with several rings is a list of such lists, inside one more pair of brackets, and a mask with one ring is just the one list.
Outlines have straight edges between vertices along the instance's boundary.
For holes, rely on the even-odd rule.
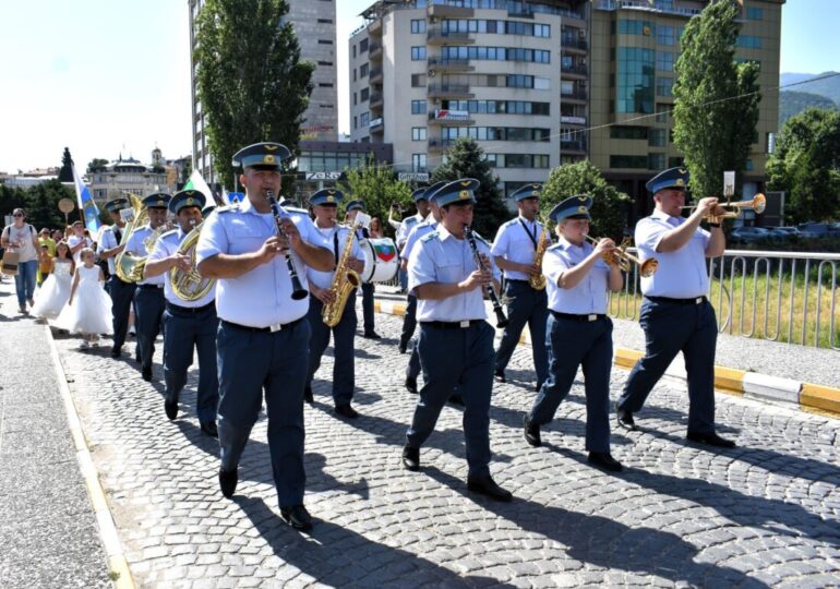
[[580,264],[593,249],[586,241],[577,247],[565,238],[560,238],[557,243],[545,250],[545,255],[542,257],[542,274],[545,275],[549,309],[571,315],[607,313],[610,266],[603,260],[599,259],[573,288],[557,286],[560,275]]

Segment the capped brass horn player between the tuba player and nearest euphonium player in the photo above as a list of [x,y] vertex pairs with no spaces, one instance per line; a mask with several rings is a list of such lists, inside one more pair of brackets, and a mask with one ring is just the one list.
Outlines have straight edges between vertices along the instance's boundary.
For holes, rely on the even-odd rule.
[[[140,256],[148,255],[145,241],[166,223],[171,195],[156,192],[143,199],[148,213],[148,224],[131,232],[124,250]],[[155,356],[155,338],[163,327],[166,299],[164,298],[164,276],[143,278],[137,281],[134,292],[134,313],[137,323],[137,361],[144,381],[152,380],[152,359]]]

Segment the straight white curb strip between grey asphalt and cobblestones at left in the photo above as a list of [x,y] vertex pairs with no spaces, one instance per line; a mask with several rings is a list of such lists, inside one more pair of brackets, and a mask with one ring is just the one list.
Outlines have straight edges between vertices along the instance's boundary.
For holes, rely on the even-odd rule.
[[[73,437],[73,446],[75,447],[76,459],[79,460],[79,470],[82,472],[82,478],[85,481],[87,496],[91,498],[91,505],[94,508],[96,521],[99,526],[99,536],[103,540],[105,554],[108,557],[108,573],[111,576],[111,582],[117,589],[135,589],[134,578],[131,576],[129,563],[122,552],[122,542],[120,542],[113,516],[105,497],[105,490],[99,482],[99,473],[96,471],[91,449],[87,447],[87,440],[85,440],[84,432],[82,431],[82,421],[79,419],[79,412],[70,395],[67,375],[61,365],[61,358],[59,357],[56,341],[52,339],[52,332],[50,332],[49,325],[45,325],[44,328],[47,332],[50,357],[56,370],[56,376],[58,377],[59,393],[61,400],[64,401],[70,435]],[[113,578],[115,575],[117,578]]]

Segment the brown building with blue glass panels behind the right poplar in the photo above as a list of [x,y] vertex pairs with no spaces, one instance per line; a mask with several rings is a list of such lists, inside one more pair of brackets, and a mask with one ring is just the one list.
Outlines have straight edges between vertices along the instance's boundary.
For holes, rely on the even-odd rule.
[[[744,195],[763,190],[771,133],[779,120],[779,47],[784,0],[740,0],[735,59],[760,65],[756,143]],[[682,165],[673,143],[674,63],[680,37],[709,0],[595,0],[591,12],[591,120],[589,158],[607,179],[635,197],[631,223],[652,207],[645,182]],[[721,190],[723,179],[721,178]],[[710,196],[710,195],[699,195]]]

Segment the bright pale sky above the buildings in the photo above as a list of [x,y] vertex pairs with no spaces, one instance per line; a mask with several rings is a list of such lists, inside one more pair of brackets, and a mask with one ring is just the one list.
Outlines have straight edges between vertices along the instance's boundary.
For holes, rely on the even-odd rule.
[[[312,0],[292,0],[312,1]],[[747,0],[749,1],[749,0]],[[347,39],[372,0],[336,0],[339,130],[349,130]],[[0,1],[0,172],[61,164],[70,147],[143,163],[190,155],[188,0]],[[788,0],[781,72],[840,71],[840,0]]]

